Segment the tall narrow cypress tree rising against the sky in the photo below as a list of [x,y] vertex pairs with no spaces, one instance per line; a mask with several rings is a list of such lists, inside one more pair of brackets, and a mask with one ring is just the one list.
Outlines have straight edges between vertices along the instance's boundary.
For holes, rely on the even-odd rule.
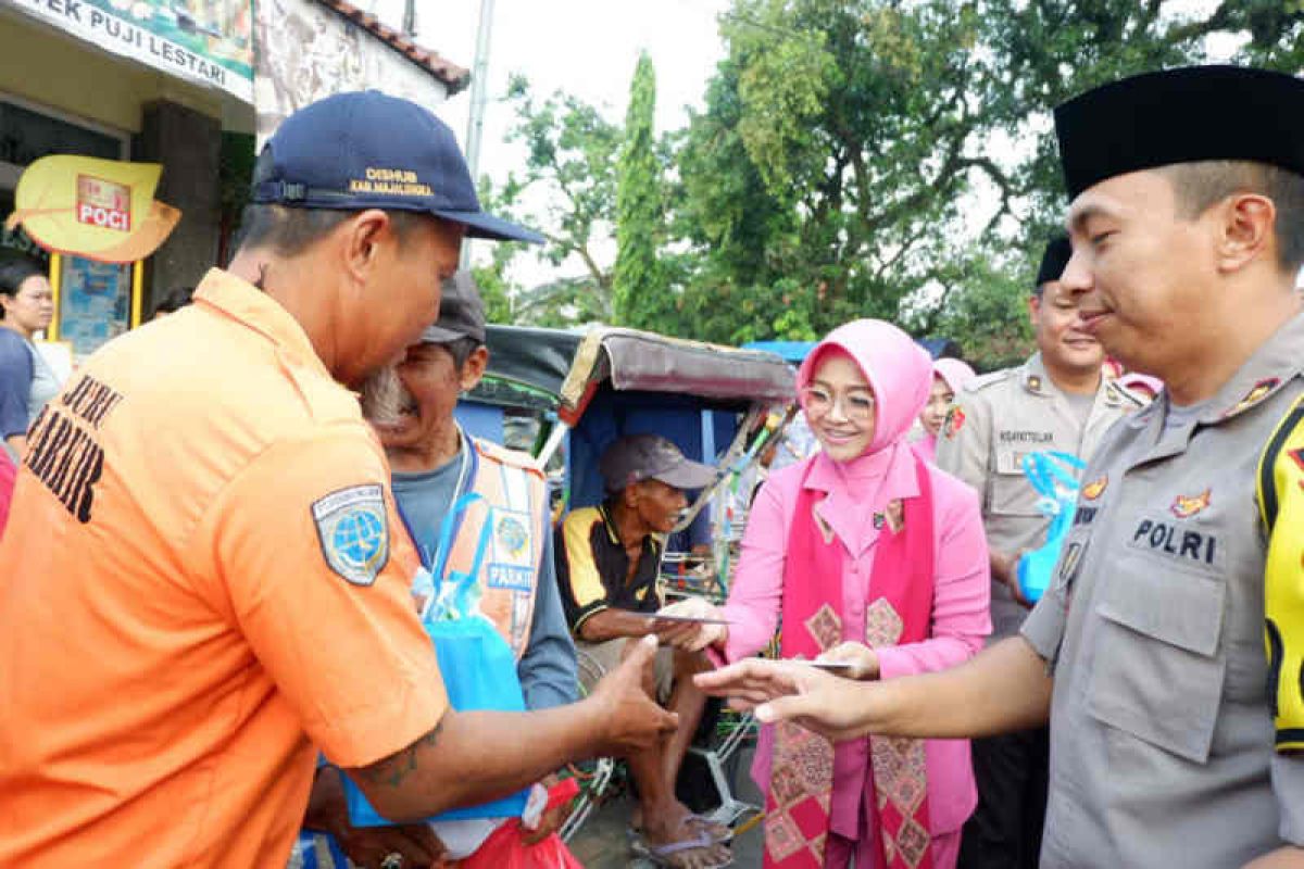
[[625,116],[625,145],[615,178],[615,270],[612,301],[619,326],[649,328],[668,305],[665,272],[657,259],[664,237],[661,167],[652,132],[656,73],[639,55]]

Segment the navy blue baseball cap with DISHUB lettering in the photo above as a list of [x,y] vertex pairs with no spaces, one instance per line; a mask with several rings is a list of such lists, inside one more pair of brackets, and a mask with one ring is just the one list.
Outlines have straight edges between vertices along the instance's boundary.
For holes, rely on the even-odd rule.
[[475,238],[544,237],[480,210],[449,126],[379,91],[335,94],[287,117],[254,168],[254,202],[293,208],[425,211]]

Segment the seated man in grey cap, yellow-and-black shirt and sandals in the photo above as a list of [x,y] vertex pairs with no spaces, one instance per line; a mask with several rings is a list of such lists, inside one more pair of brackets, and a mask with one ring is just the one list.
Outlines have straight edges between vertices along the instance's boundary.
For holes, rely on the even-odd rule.
[[[705,697],[691,680],[708,667],[702,653],[674,646],[695,631],[649,618],[661,608],[656,581],[662,539],[687,507],[685,490],[704,489],[715,470],[690,461],[665,438],[621,438],[600,461],[608,499],[571,512],[557,532],[557,580],[576,646],[604,670],[618,666],[629,637],[656,633],[657,653],[648,693],[679,715],[664,743],[627,756],[639,788],[643,840],[660,861],[686,869],[730,862],[722,844],[729,830],[694,816],[674,796],[679,765]],[[635,826],[639,826],[635,817]]]

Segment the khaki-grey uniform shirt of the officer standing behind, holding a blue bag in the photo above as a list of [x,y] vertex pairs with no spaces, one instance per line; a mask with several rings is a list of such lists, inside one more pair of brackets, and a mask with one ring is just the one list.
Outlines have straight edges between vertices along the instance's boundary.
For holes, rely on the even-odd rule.
[[[1058,449],[1086,459],[1119,417],[1141,406],[1131,392],[1101,379],[1086,425],[1055,387],[1041,354],[965,387],[938,438],[938,466],[978,490],[987,545],[1013,554],[1046,542],[1050,517],[1024,474],[1030,452]],[[991,641],[1018,632],[1028,610],[992,578]]]

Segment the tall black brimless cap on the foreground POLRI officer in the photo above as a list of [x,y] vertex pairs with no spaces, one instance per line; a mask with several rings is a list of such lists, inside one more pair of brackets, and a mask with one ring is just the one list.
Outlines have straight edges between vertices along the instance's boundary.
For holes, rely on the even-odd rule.
[[1304,81],[1248,66],[1185,66],[1097,87],[1055,109],[1069,198],[1118,175],[1249,160],[1304,175]]

